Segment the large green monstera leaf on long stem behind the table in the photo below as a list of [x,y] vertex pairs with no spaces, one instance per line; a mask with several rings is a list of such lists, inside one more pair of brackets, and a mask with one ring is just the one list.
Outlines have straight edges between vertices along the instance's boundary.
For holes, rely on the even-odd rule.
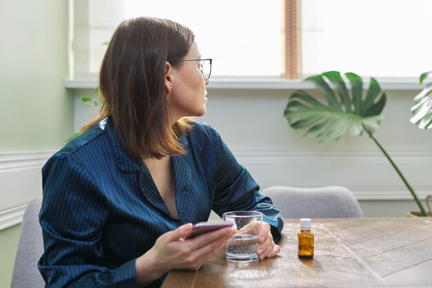
[[374,78],[371,78],[369,88],[366,90],[363,88],[363,80],[360,76],[354,73],[345,73],[344,76],[351,84],[350,90],[337,71],[328,71],[305,79],[315,84],[325,101],[305,91],[297,90],[289,97],[284,112],[286,120],[292,128],[305,130],[305,137],[317,137],[320,142],[339,140],[343,135],[348,137],[364,133],[369,135],[411,192],[421,215],[426,216],[417,193],[373,136],[382,121],[381,112],[386,104],[386,93]]

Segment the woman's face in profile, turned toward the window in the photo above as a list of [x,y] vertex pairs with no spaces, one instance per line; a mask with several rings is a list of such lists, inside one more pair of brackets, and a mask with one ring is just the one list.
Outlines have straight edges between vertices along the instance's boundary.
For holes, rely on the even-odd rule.
[[[184,60],[201,59],[198,46],[194,42]],[[170,66],[167,75],[170,87],[167,91],[167,101],[173,123],[185,116],[202,116],[206,113],[208,80],[199,70],[199,61],[182,61],[177,67]]]

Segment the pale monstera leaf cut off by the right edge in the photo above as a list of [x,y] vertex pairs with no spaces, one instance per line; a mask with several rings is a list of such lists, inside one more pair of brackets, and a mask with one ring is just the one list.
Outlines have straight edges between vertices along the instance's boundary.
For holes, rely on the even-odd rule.
[[[420,76],[420,84],[423,80],[432,73],[425,72]],[[417,125],[421,129],[432,128],[432,83],[427,84],[419,95],[414,97],[414,106],[411,107],[413,117],[411,123]]]

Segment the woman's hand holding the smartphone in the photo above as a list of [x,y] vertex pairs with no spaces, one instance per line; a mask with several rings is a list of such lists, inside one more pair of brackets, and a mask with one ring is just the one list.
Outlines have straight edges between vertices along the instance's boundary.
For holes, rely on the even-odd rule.
[[164,233],[157,238],[150,250],[137,258],[135,271],[140,287],[173,269],[199,269],[215,256],[236,232],[232,227],[228,227],[185,240],[192,233],[192,229],[193,225],[188,223]]

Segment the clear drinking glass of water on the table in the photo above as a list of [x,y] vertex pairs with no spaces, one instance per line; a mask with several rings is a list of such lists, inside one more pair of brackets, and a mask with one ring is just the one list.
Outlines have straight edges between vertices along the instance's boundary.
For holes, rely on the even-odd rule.
[[232,211],[222,215],[224,221],[233,222],[237,233],[226,244],[226,259],[237,262],[258,260],[259,231],[262,213],[257,211]]

